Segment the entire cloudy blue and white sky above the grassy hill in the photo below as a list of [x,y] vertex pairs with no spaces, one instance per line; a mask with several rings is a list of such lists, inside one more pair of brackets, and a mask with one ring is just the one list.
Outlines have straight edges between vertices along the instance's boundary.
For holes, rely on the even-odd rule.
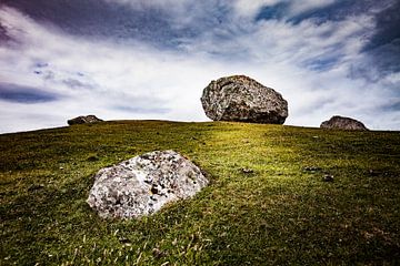
[[209,121],[211,80],[249,75],[288,125],[400,130],[399,0],[1,0],[0,133]]

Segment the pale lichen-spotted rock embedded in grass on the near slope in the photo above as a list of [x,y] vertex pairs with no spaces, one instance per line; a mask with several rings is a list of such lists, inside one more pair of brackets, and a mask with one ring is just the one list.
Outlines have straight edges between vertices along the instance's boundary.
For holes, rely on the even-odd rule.
[[200,168],[173,151],[156,151],[100,170],[88,204],[101,217],[149,215],[208,184]]

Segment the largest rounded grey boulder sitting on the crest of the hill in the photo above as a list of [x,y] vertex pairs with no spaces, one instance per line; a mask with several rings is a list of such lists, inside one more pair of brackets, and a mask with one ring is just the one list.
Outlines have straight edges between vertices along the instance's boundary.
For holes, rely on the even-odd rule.
[[282,95],[246,75],[211,81],[201,103],[213,121],[283,124],[288,117],[288,102]]

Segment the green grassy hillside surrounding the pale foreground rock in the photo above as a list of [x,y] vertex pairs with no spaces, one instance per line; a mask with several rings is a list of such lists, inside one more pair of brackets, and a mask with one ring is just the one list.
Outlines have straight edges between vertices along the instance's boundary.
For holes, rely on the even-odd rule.
[[[99,168],[170,149],[210,186],[141,219],[89,208]],[[399,132],[120,121],[0,151],[0,265],[400,264]]]

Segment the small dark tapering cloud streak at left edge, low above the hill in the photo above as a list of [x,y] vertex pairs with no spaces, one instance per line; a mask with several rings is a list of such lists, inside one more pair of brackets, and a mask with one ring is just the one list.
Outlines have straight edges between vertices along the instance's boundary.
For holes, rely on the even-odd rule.
[[57,101],[59,95],[36,88],[1,83],[0,100],[18,103],[42,103]]

